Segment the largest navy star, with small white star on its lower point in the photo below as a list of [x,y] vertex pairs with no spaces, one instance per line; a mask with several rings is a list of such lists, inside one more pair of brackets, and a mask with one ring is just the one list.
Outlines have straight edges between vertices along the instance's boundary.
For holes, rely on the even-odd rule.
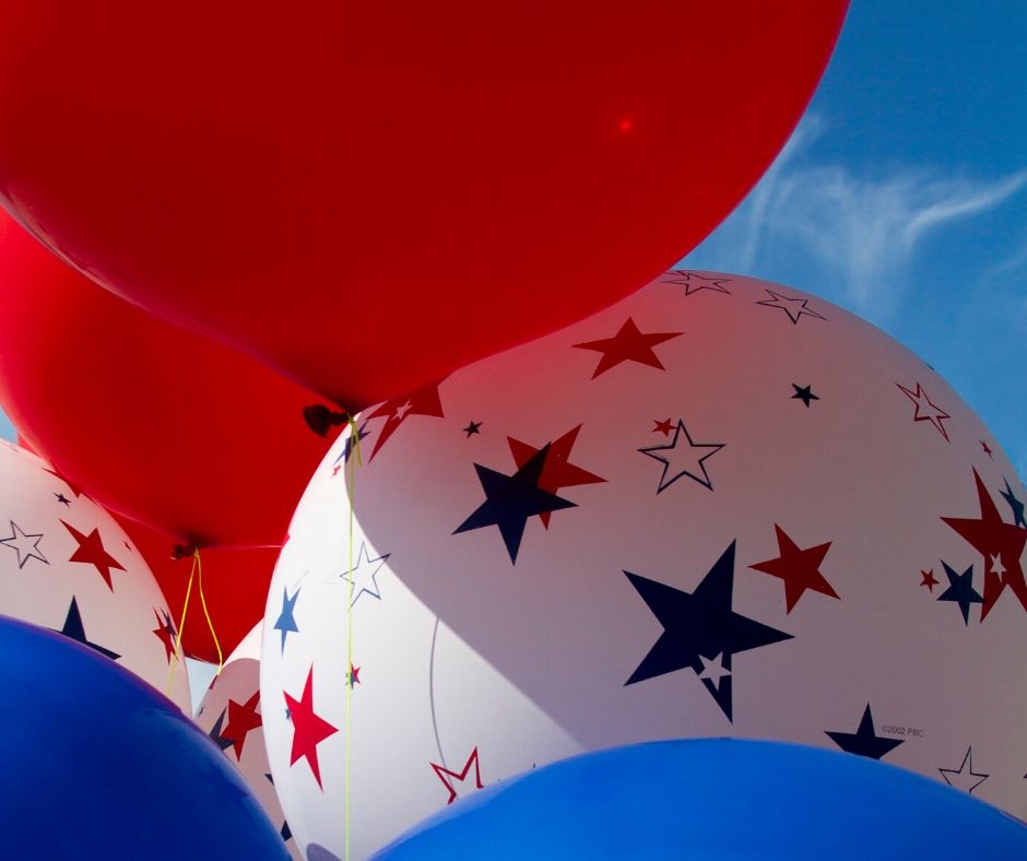
[[[663,625],[663,634],[625,685],[690,667],[728,720],[733,719],[731,656],[792,637],[731,609],[734,545],[732,541],[692,594],[624,573]],[[713,667],[717,670],[711,673]]]

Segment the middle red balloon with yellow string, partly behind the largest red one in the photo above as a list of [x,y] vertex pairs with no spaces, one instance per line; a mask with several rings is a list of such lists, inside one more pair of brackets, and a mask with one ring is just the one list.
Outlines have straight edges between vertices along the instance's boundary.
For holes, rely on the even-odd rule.
[[316,396],[101,290],[2,213],[0,300],[0,405],[75,492],[182,544],[282,543],[328,445],[304,422]]

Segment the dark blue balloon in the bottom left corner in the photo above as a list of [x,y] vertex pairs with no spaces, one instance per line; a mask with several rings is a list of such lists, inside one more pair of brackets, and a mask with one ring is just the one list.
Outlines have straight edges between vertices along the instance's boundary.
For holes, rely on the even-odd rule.
[[0,616],[0,691],[4,858],[288,861],[217,746],[114,661]]

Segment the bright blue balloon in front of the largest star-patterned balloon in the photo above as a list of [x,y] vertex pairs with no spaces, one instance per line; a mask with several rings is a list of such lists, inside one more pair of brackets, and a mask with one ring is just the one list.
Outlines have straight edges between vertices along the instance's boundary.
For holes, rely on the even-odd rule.
[[457,802],[377,859],[1027,859],[1027,825],[941,782],[794,744],[652,742]]

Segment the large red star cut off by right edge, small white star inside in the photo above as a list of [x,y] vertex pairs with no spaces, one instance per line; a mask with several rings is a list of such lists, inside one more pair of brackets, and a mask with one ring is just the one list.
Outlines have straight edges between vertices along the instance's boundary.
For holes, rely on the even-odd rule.
[[1020,562],[1024,547],[1027,546],[1027,530],[1002,522],[1002,516],[977,470],[973,470],[973,480],[977,482],[977,498],[981,506],[980,518],[943,517],[942,520],[984,557],[983,622],[1006,587],[1013,590],[1024,610],[1027,610],[1027,582]]

